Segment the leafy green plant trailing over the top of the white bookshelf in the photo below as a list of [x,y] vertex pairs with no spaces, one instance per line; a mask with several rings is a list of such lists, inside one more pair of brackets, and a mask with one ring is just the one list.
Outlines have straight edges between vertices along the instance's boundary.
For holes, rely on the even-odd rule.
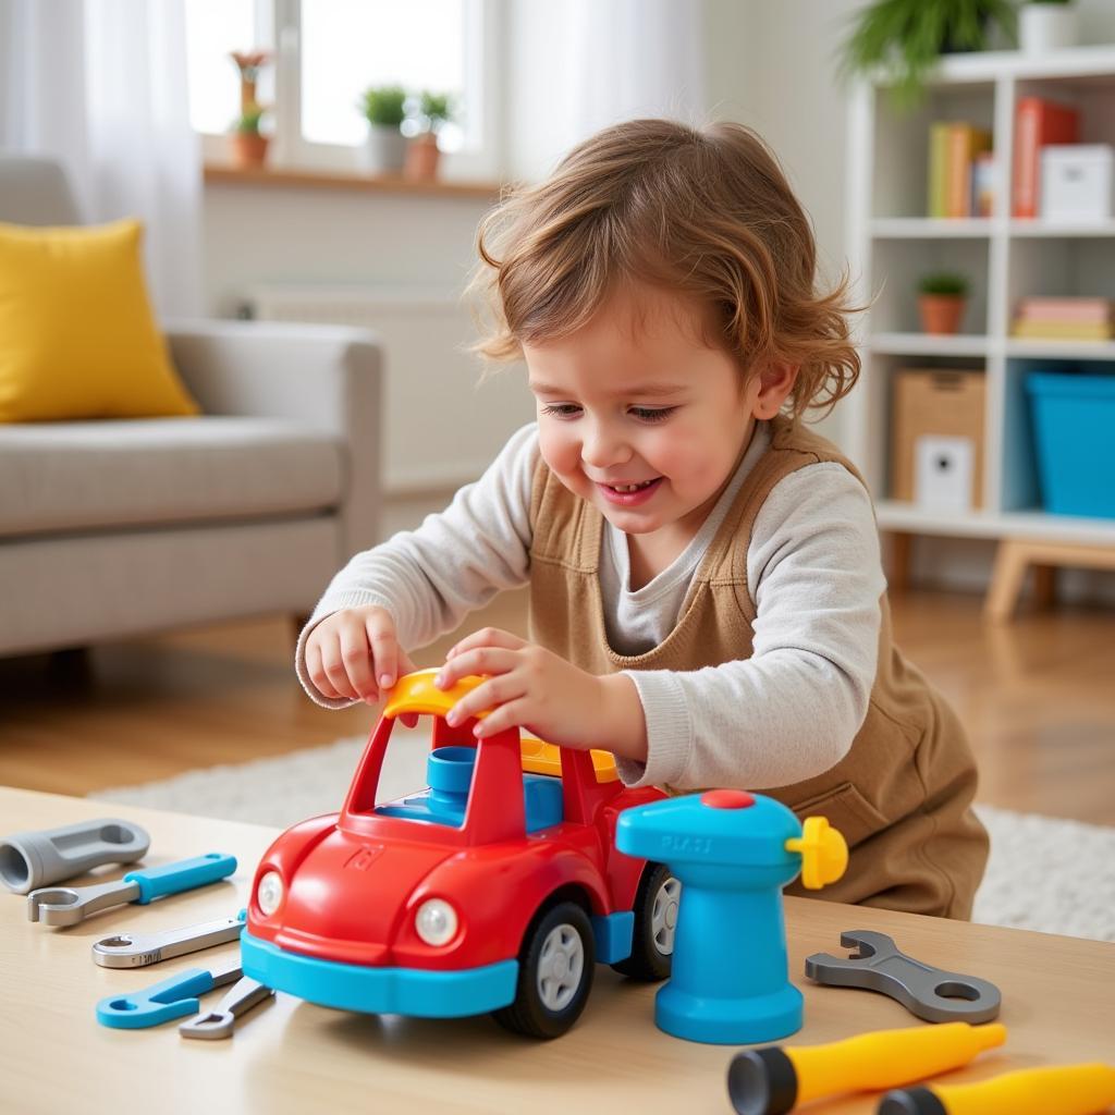
[[983,49],[991,25],[1015,42],[1017,13],[1010,0],[876,0],[856,16],[841,70],[845,77],[882,72],[893,83],[894,106],[912,108],[940,55]]

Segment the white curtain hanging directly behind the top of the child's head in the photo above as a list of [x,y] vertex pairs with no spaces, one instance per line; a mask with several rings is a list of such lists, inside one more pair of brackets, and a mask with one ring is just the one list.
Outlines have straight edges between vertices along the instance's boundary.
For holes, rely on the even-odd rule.
[[619,120],[707,115],[701,0],[512,0],[506,146],[513,178],[540,178]]

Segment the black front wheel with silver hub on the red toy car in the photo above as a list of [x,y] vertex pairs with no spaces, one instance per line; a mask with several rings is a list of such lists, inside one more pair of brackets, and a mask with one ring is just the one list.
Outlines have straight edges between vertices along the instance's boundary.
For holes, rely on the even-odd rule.
[[[550,953],[545,958],[549,962],[555,959],[555,949],[561,961],[579,961],[580,970],[575,970],[574,962],[571,981],[551,979],[550,987],[544,989],[543,953]],[[526,931],[518,956],[515,1001],[493,1011],[493,1017],[516,1034],[559,1038],[581,1017],[592,990],[595,968],[597,951],[589,915],[575,902],[559,902],[536,915]],[[552,1001],[547,1004],[547,999]]]

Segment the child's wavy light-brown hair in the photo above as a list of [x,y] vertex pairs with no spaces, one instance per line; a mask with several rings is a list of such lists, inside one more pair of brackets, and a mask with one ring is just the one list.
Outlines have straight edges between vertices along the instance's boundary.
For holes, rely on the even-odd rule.
[[[493,245],[494,242],[494,245]],[[512,192],[478,234],[471,289],[494,318],[473,350],[522,359],[586,324],[618,287],[641,282],[716,310],[717,336],[749,372],[801,371],[787,401],[798,418],[832,408],[855,384],[849,279],[814,289],[809,222],[769,148],[741,124],[692,128],[629,120],[574,147],[545,182]]]

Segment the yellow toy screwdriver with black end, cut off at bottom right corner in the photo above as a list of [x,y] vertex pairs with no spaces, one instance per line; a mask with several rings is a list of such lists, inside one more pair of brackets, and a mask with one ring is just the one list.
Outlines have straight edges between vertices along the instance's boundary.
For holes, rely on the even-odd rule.
[[1115,1104],[1111,1065],[1024,1068],[979,1084],[903,1088],[883,1096],[879,1115],[1095,1115]]

